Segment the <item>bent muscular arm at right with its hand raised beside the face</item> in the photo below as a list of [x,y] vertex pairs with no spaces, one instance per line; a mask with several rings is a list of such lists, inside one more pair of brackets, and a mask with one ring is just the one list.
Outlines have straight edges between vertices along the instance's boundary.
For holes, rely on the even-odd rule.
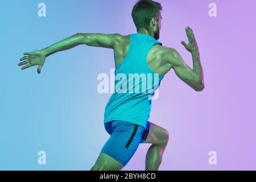
[[191,88],[197,92],[200,92],[204,89],[204,74],[200,62],[199,48],[192,29],[187,27],[185,31],[187,32],[189,43],[187,45],[185,42],[181,42],[181,44],[191,52],[193,69],[185,64],[183,58],[174,48],[166,49],[164,52],[164,59],[172,65],[176,75],[182,81],[191,86]]

